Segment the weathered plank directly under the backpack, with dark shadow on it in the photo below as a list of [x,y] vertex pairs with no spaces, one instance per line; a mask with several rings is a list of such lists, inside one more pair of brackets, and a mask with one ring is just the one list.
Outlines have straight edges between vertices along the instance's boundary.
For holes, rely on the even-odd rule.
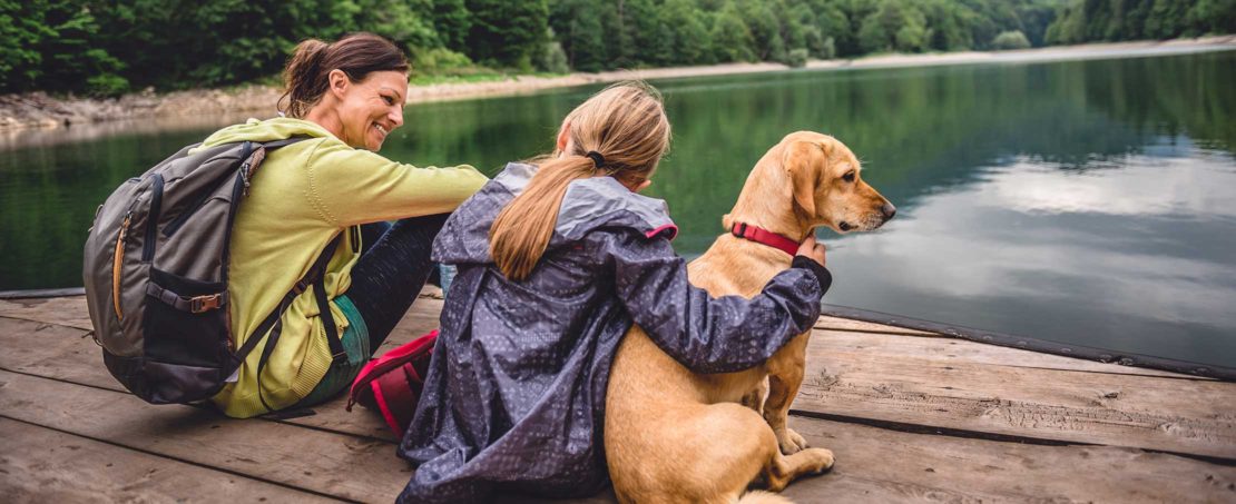
[[[47,400],[56,398],[56,400]],[[0,371],[0,414],[341,499],[394,500],[412,468],[387,442]]]

